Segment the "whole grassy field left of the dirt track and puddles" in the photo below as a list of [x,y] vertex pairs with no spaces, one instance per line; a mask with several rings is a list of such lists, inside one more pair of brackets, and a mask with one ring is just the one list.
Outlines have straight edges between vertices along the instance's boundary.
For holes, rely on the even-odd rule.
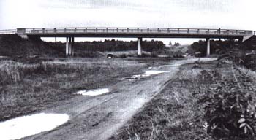
[[156,60],[67,58],[20,63],[0,61],[0,121],[47,109],[78,90],[102,88]]

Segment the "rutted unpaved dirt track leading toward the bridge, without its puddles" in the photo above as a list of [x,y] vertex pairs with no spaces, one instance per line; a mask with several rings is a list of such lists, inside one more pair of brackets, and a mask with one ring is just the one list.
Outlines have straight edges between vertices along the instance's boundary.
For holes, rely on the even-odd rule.
[[70,120],[53,131],[39,133],[25,139],[108,139],[175,76],[179,65],[173,64],[184,64],[197,60],[173,61],[170,65],[158,69],[170,71],[169,73],[142,79],[124,79],[111,86],[111,92],[105,95],[79,96],[67,101],[64,106],[45,110],[45,113],[69,114]]

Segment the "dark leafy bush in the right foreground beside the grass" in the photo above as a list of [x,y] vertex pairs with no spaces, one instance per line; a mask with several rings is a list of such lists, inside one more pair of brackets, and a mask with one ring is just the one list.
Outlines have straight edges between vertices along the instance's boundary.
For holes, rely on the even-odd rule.
[[[216,78],[198,102],[205,111],[203,127],[214,138],[249,138],[255,135],[256,89],[252,79],[232,65],[233,79]],[[216,72],[216,71],[215,71]]]

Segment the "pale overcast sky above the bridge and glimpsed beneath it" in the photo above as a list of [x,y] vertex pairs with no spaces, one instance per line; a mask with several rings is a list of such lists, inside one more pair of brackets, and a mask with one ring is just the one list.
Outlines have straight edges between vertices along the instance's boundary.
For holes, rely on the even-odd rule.
[[[0,30],[27,27],[166,27],[256,31],[255,12],[255,0],[0,0]],[[158,40],[181,44],[195,41]]]

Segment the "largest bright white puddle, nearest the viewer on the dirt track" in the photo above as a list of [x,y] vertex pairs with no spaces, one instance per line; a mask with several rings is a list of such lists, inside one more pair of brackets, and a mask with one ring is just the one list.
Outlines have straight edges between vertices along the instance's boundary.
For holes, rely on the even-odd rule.
[[67,123],[67,114],[33,114],[30,116],[17,117],[0,123],[0,139],[21,139],[43,131],[50,131]]

